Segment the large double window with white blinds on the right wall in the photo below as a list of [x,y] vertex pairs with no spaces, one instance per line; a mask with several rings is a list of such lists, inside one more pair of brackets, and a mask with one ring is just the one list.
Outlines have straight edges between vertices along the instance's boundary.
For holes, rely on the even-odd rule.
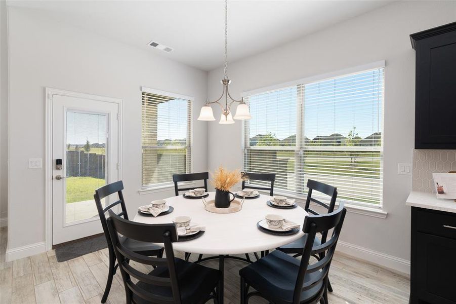
[[383,91],[382,67],[247,96],[244,170],[276,173],[284,193],[306,194],[310,178],[346,202],[381,205]]

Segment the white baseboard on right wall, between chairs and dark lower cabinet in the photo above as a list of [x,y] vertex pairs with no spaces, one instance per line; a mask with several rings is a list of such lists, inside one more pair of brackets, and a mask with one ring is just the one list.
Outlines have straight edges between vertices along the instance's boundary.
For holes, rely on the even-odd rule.
[[364,248],[343,241],[337,242],[336,251],[380,265],[382,267],[410,275],[410,261],[379,251]]

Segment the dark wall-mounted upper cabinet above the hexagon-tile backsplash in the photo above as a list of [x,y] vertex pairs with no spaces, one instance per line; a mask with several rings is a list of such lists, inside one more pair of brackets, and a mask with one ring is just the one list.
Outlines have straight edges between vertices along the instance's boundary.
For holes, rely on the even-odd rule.
[[410,35],[416,51],[415,148],[456,148],[456,22]]

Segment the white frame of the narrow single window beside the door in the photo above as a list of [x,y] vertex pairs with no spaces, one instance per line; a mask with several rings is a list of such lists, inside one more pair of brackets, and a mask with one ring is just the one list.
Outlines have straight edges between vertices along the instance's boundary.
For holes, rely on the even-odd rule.
[[[187,160],[189,159],[189,163],[186,164],[186,171],[187,173],[193,172],[193,157],[192,157],[192,150],[193,150],[193,105],[194,105],[194,100],[195,98],[192,96],[187,96],[187,95],[182,95],[178,93],[172,93],[172,92],[167,92],[167,91],[162,91],[162,90],[157,90],[157,89],[152,89],[148,87],[141,87],[141,99],[143,93],[148,93],[148,94],[155,94],[155,95],[160,95],[160,96],[166,96],[166,97],[171,97],[175,99],[183,99],[187,100],[190,102],[189,106],[189,113],[187,112],[187,117],[189,118],[187,122],[187,144],[185,146],[148,146],[149,148],[156,148],[156,149],[182,149],[185,148],[187,151]],[[142,105],[141,105],[141,116],[143,115],[142,113]],[[174,182],[169,181],[169,182],[161,182],[161,183],[154,183],[154,184],[148,184],[148,185],[143,185],[142,181],[142,175],[143,175],[143,161],[142,161],[142,150],[143,150],[143,145],[142,145],[142,126],[141,126],[141,180],[140,180],[140,185],[139,185],[139,194],[148,194],[148,193],[154,193],[154,192],[162,192],[162,191],[168,191],[170,188],[174,187]],[[190,156],[190,157],[188,157]],[[194,182],[188,182],[186,183],[188,185],[194,184]]]

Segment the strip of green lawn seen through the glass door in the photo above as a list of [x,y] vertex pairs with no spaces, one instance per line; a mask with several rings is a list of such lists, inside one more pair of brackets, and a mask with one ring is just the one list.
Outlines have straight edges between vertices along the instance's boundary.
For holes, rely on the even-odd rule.
[[95,189],[105,184],[106,181],[102,178],[67,177],[66,203],[93,200]]

